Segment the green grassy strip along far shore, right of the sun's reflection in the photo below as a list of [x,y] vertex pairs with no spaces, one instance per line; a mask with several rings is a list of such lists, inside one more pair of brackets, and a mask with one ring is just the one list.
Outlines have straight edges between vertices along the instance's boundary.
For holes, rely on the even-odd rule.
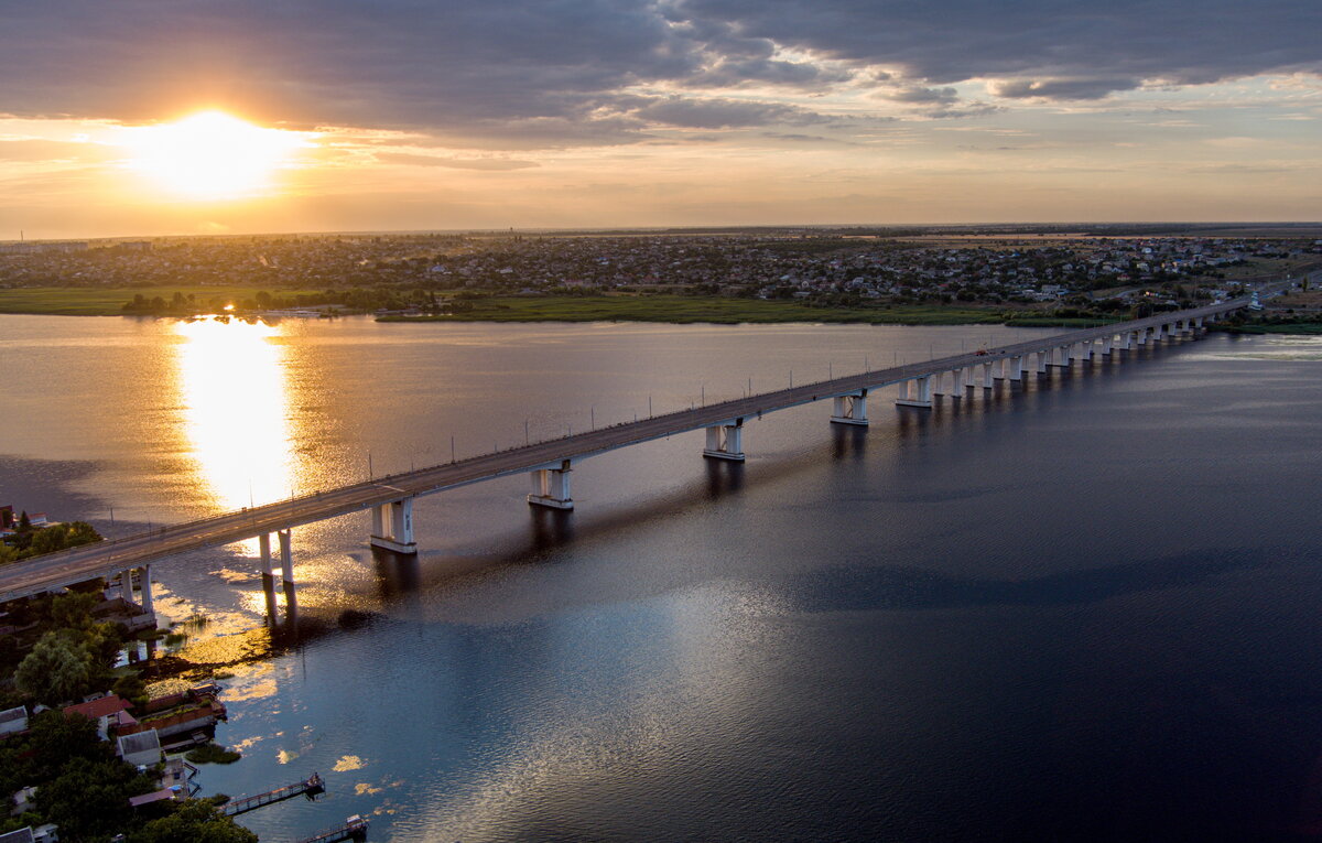
[[810,308],[793,301],[694,299],[690,296],[547,296],[479,299],[455,316],[385,316],[383,322],[871,322],[887,325],[972,325],[1001,322],[997,311],[911,307]]

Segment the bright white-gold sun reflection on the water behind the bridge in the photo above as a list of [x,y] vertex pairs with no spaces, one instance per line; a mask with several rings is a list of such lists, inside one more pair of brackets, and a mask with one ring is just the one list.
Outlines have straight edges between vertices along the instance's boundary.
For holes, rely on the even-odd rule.
[[[180,398],[200,490],[213,510],[262,505],[291,494],[292,436],[286,349],[266,322],[178,322]],[[251,546],[251,547],[250,547]],[[256,540],[243,543],[256,554]]]

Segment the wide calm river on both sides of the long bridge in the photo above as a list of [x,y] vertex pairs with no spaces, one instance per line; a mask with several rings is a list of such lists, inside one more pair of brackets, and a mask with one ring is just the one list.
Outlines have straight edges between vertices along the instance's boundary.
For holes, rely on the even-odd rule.
[[[0,316],[0,503],[123,535],[1052,332]],[[825,403],[153,566],[226,677],[204,793],[288,840],[1206,840],[1322,830],[1322,340],[1211,334],[933,411]],[[114,519],[114,521],[112,521]],[[353,612],[349,612],[353,610]]]

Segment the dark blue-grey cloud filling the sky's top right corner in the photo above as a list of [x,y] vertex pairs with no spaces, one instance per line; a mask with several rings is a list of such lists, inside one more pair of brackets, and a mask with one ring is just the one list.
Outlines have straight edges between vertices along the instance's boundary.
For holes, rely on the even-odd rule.
[[672,15],[935,85],[1022,81],[1011,96],[1034,82],[1029,95],[1068,99],[1322,69],[1314,0],[676,0]]

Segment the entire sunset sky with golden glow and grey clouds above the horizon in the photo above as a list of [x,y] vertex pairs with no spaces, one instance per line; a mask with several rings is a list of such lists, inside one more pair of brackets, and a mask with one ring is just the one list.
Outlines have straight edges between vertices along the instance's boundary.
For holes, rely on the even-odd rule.
[[1315,0],[5,3],[0,240],[1315,221],[1319,33]]

